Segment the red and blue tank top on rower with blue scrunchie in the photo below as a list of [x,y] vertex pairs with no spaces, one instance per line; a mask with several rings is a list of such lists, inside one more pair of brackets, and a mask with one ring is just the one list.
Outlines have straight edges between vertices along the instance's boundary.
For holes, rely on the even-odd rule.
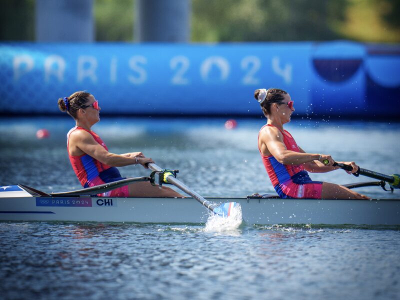
[[[101,140],[101,138],[93,131],[78,126],[75,126],[68,131],[66,135],[66,150],[68,151],[68,157],[69,161],[71,162],[73,171],[75,172],[76,177],[78,177],[82,186],[87,187],[88,182],[90,182],[97,176],[100,176],[102,179],[103,177],[105,177],[104,179],[108,179],[108,177],[120,177],[119,171],[116,167],[111,167],[107,164],[104,164],[88,154],[71,155],[69,153],[69,134],[71,134],[74,130],[85,130],[89,132],[93,136],[94,140],[98,142],[101,146],[103,146],[104,149],[108,151],[108,148]],[[110,182],[109,180],[104,179],[104,182]]]

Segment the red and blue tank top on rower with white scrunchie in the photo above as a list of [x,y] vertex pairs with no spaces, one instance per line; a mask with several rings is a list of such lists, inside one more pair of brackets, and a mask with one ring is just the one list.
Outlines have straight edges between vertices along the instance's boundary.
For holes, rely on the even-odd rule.
[[[273,125],[266,124],[261,127],[260,131],[265,126],[275,127]],[[294,140],[293,136],[291,136],[291,134],[287,130],[284,130],[283,132],[282,130],[279,129],[279,131],[283,135],[283,143],[285,144],[286,148],[291,151],[300,152],[300,149],[298,148],[297,143]],[[259,132],[258,132],[258,138],[259,138]],[[258,150],[261,155],[261,159],[265,166],[266,172],[269,178],[271,179],[273,186],[276,186],[277,184],[290,180],[291,177],[297,174],[298,172],[301,171],[306,172],[302,164],[283,164],[278,162],[276,158],[273,157],[273,155],[269,156],[263,155],[259,147]]]

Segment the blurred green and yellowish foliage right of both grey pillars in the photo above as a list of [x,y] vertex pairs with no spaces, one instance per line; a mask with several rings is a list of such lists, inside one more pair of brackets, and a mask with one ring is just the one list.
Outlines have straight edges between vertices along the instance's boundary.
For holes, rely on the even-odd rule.
[[400,41],[400,0],[192,0],[192,41]]

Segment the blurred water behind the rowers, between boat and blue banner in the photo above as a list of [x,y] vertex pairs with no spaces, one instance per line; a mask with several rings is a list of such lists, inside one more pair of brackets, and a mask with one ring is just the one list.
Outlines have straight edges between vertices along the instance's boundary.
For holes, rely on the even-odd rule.
[[[246,196],[275,192],[257,150],[264,119],[238,120],[234,130],[224,119],[105,118],[93,126],[110,151],[142,151],[161,168],[179,169],[178,178],[203,196]],[[72,119],[4,118],[0,120],[0,184],[24,183],[43,191],[80,188],[66,154]],[[286,126],[285,126],[286,127]],[[50,137],[37,139],[47,128]],[[294,120],[287,130],[305,151],[353,160],[381,173],[399,173],[400,123]],[[120,168],[123,176],[148,175],[140,166]],[[351,183],[372,180],[344,170],[313,173],[314,180]],[[358,188],[373,198],[398,197],[377,187]]]

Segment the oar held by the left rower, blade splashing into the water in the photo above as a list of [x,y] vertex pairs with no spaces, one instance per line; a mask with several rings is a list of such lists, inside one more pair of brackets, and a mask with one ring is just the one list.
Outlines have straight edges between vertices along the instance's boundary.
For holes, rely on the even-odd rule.
[[[155,163],[149,163],[147,166],[152,169],[153,171],[160,172],[162,169],[156,165]],[[203,206],[207,207],[209,210],[214,212],[215,214],[218,214],[220,216],[229,216],[233,207],[238,206],[239,204],[236,202],[226,202],[223,203],[219,206],[216,206],[215,204],[212,204],[211,202],[207,201],[204,199],[202,196],[200,196],[198,193],[196,193],[194,190],[190,189],[188,186],[186,186],[184,183],[176,179],[172,172],[166,172],[164,173],[164,178],[163,181],[166,181],[168,183],[171,183],[175,185],[177,188],[181,189],[188,195],[192,196],[194,199],[196,199],[198,202],[200,202]]]

